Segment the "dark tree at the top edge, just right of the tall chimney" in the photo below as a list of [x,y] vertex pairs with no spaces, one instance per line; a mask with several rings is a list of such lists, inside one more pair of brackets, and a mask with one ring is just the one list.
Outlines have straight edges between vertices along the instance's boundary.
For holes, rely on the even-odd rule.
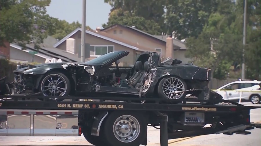
[[231,0],[166,0],[166,34],[177,39],[196,37],[212,13],[231,12]]

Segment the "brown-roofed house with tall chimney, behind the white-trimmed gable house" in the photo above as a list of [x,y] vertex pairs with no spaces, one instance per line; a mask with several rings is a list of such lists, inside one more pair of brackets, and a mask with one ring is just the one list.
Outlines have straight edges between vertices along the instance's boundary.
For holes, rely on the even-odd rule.
[[[151,35],[136,29],[134,26],[130,27],[119,24],[104,28],[101,31],[159,51],[161,57],[177,58],[183,63],[191,61],[190,58],[185,57],[186,46],[184,42],[173,38],[172,40],[169,40],[173,45],[166,45],[167,38],[169,38],[166,35]],[[166,48],[166,46],[172,47],[172,49]]]

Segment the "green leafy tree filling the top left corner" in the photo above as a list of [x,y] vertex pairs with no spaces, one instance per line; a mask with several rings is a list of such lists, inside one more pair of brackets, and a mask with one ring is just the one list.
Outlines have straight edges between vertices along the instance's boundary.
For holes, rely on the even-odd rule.
[[[0,42],[17,42],[22,48],[31,41],[35,48],[55,33],[58,20],[46,14],[51,0],[1,0]],[[0,44],[0,45],[3,45]]]

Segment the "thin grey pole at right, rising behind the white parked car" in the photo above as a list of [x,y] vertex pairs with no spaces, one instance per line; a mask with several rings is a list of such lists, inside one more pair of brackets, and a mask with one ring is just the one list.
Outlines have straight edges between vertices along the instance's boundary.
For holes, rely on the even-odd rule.
[[244,8],[244,28],[243,28],[243,63],[242,63],[242,80],[245,79],[245,45],[246,45],[246,26],[247,25],[247,0],[245,0]]

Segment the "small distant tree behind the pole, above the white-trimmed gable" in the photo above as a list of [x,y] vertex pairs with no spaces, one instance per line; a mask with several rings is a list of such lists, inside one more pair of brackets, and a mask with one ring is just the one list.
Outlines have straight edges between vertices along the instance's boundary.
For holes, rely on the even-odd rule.
[[[81,23],[79,23],[78,21],[68,23],[66,20],[59,20],[59,23],[57,23],[56,33],[51,36],[58,40],[61,40],[78,27],[81,27]],[[92,30],[89,26],[86,26],[86,29]]]

